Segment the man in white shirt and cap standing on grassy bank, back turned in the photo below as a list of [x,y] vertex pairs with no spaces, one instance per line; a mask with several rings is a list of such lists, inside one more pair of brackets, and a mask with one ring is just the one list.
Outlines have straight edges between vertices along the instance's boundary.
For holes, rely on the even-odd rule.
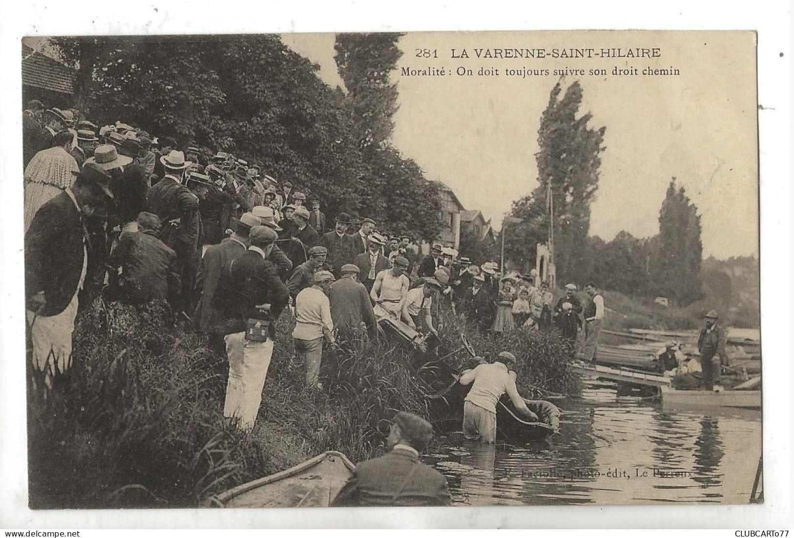
[[306,361],[306,386],[322,390],[319,381],[322,362],[322,341],[334,343],[333,319],[328,299],[333,275],[330,271],[314,273],[314,286],[307,287],[295,298],[295,358]]

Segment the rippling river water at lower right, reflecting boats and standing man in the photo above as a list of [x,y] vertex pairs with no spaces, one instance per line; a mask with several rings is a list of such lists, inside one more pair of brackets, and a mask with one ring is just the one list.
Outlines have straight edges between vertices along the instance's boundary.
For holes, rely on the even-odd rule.
[[426,458],[454,505],[709,502],[747,504],[761,456],[761,412],[668,412],[615,383],[585,380],[553,403],[561,432],[513,446],[450,435]]

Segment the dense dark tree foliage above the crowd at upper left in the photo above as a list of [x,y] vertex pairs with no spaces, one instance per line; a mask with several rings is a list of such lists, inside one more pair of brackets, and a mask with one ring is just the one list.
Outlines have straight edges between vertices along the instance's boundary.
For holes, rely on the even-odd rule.
[[385,144],[397,94],[384,80],[399,58],[399,36],[367,35],[374,36],[370,56],[383,58],[386,71],[368,69],[366,77],[391,87],[382,117],[357,112],[376,98],[355,83],[361,56],[353,41],[343,78],[356,92],[347,94],[323,83],[318,66],[275,35],[60,37],[53,44],[77,69],[76,106],[94,123],[121,120],[174,136],[180,148],[232,152],[318,196],[330,218],[341,211],[375,217],[382,229],[431,239],[437,191]]

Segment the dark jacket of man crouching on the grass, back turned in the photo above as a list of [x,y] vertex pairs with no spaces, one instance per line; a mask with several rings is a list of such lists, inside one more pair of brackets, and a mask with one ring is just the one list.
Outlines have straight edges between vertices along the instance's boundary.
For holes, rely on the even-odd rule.
[[110,255],[112,267],[121,269],[121,298],[133,304],[152,299],[172,300],[179,293],[176,252],[154,232],[123,232]]

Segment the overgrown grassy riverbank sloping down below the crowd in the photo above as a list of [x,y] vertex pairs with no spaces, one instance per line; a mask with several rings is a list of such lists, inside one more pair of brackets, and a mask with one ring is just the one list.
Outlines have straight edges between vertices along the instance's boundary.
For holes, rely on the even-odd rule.
[[[326,450],[368,459],[396,410],[429,416],[407,344],[374,340],[327,354],[326,391],[307,390],[303,368],[290,366],[292,320],[285,314],[259,419],[242,435],[222,417],[225,355],[203,336],[164,329],[163,314],[95,303],[79,317],[68,374],[57,376],[46,399],[29,387],[32,508],[197,506]],[[449,317],[441,339],[456,348],[461,331],[468,329]],[[526,395],[531,386],[563,391],[572,384],[556,336],[471,340],[483,355],[511,349],[529,357],[519,372]]]

